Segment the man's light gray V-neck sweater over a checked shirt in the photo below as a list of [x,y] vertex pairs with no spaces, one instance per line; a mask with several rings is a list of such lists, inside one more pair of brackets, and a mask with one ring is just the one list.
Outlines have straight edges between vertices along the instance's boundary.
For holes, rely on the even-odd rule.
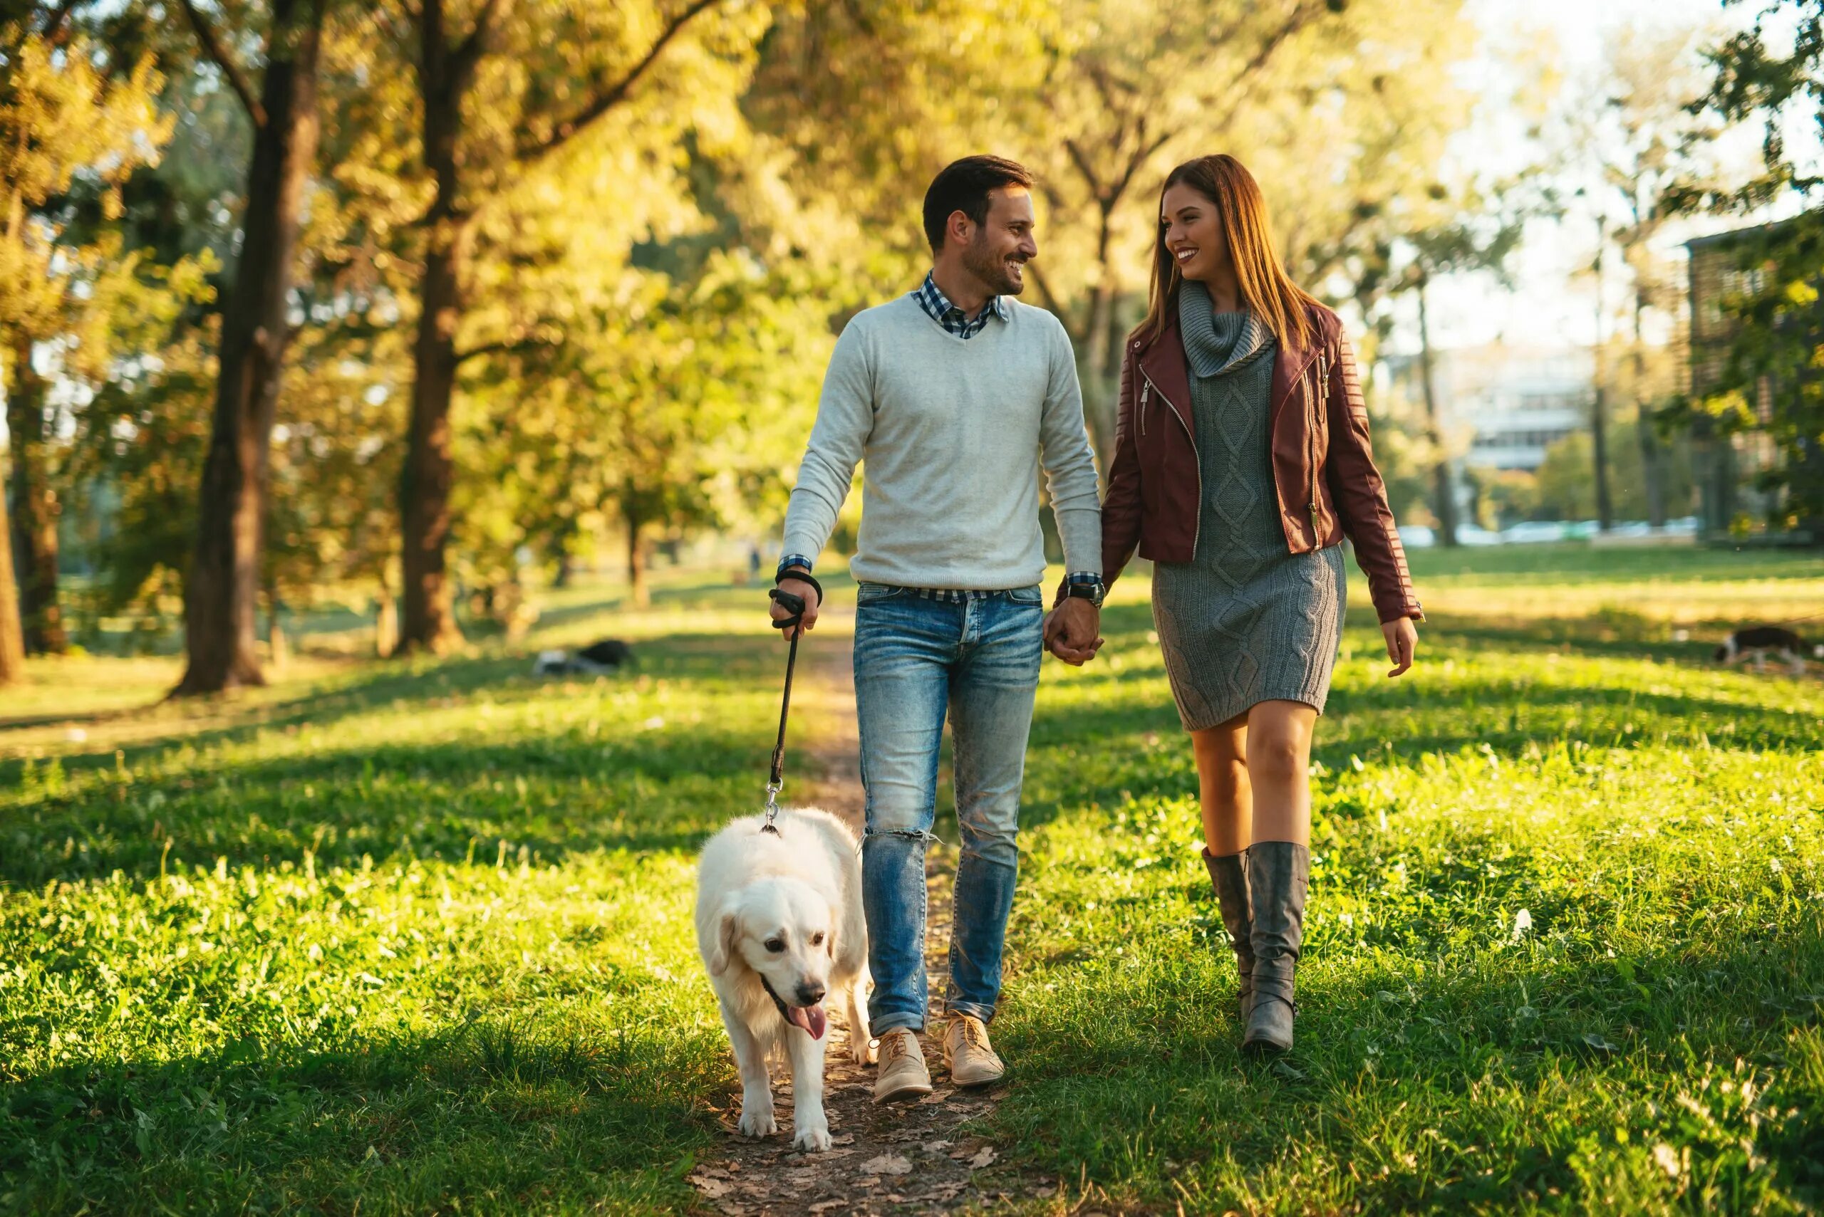
[[815,557],[865,461],[848,572],[903,587],[1031,587],[1045,576],[1045,466],[1069,570],[1102,570],[1096,466],[1063,326],[1001,301],[970,339],[903,295],[857,313],[823,379],[817,424],[786,510],[786,554]]

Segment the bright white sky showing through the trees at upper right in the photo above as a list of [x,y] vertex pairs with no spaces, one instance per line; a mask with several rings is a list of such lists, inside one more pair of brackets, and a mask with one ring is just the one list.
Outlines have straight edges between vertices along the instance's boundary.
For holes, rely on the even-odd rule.
[[[1516,22],[1539,26],[1558,44],[1560,67],[1565,77],[1594,69],[1603,44],[1603,33],[1620,24],[1653,27],[1691,27],[1716,24],[1724,29],[1753,22],[1762,5],[1722,5],[1718,0],[1470,0],[1470,11],[1488,44],[1518,36]],[[1483,155],[1496,164],[1507,159],[1521,164],[1525,151],[1519,137],[1487,140]],[[1735,157],[1758,164],[1758,131],[1742,133],[1731,149]],[[1704,217],[1680,224],[1669,233],[1665,246],[1676,255],[1676,246],[1689,237],[1726,231],[1755,222],[1753,217]],[[1512,271],[1514,290],[1503,290],[1487,275],[1439,281],[1430,297],[1434,348],[1474,346],[1507,341],[1527,346],[1589,346],[1596,335],[1596,293],[1589,266],[1596,250],[1594,217],[1587,211],[1563,220],[1538,220],[1529,226]],[[1614,266],[1618,259],[1611,259]],[[1607,299],[1618,308],[1625,281],[1620,273],[1607,277]],[[1614,322],[1607,322],[1612,326]],[[1611,328],[1612,333],[1612,328]],[[1403,301],[1390,348],[1417,350],[1417,306]]]

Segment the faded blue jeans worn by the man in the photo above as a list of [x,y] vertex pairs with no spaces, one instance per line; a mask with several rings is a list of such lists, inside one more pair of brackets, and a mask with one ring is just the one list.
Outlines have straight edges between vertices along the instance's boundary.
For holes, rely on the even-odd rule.
[[925,849],[938,814],[943,720],[956,745],[956,869],[947,1011],[994,1017],[1014,904],[1020,780],[1043,654],[1043,596],[863,583],[855,718],[868,793],[861,898],[874,1033],[925,1028]]

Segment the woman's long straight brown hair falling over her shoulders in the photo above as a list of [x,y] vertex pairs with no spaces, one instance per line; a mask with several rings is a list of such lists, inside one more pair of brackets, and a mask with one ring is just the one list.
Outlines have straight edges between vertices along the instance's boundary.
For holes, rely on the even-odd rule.
[[[1222,235],[1229,242],[1229,261],[1235,264],[1242,302],[1266,322],[1273,339],[1280,346],[1310,346],[1315,333],[1306,310],[1317,301],[1286,275],[1286,266],[1273,253],[1266,199],[1253,173],[1226,153],[1186,160],[1167,173],[1166,184],[1158,188],[1160,210],[1166,206],[1166,191],[1173,186],[1189,186],[1215,204]],[[1182,284],[1178,262],[1166,248],[1166,226],[1158,224],[1153,237],[1153,286],[1147,291],[1145,321],[1135,328],[1135,339],[1151,343],[1166,332],[1178,315]]]

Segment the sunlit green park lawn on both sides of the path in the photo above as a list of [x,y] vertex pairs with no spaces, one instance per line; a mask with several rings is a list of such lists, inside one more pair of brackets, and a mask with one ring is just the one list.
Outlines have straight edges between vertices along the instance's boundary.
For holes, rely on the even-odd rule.
[[[1144,579],[1105,663],[1047,667],[987,1131],[1127,1210],[1817,1212],[1824,694],[1702,656],[1824,612],[1824,561],[1414,565],[1423,667],[1352,616],[1319,729],[1279,1066],[1235,1051]],[[527,645],[615,630],[637,676],[483,650],[122,712],[151,669],[35,669],[89,711],[0,707],[0,1208],[691,1204],[735,1088],[691,851],[753,803],[777,652],[751,588],[571,599]]]

